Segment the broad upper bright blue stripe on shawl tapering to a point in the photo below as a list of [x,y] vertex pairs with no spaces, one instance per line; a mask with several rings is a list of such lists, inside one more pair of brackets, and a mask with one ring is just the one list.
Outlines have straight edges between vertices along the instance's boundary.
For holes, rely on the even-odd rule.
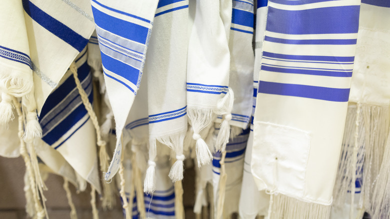
[[110,16],[93,6],[92,12],[95,23],[99,27],[126,39],[130,39],[142,44],[146,43],[149,28]]

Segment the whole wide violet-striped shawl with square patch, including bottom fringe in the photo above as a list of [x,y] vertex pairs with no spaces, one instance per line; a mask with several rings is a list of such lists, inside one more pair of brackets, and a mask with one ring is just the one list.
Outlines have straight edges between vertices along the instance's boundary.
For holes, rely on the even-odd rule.
[[329,217],[359,5],[268,1],[251,171],[269,218]]

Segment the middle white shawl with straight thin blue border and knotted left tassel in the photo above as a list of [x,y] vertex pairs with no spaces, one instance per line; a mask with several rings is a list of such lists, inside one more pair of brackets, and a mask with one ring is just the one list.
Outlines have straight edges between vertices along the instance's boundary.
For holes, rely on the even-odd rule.
[[[223,15],[224,9],[231,11],[231,8],[227,6],[220,9],[219,0],[197,0],[190,3],[189,7],[190,25],[192,22],[193,25],[189,27],[187,107],[200,166],[209,162],[212,155],[199,132],[209,125],[213,113],[227,115],[231,112],[231,108],[225,106],[225,103],[230,102],[230,54],[224,26],[227,20],[220,16],[220,11]],[[229,95],[222,99],[227,92]],[[228,138],[229,129],[224,130],[224,133],[224,138]]]

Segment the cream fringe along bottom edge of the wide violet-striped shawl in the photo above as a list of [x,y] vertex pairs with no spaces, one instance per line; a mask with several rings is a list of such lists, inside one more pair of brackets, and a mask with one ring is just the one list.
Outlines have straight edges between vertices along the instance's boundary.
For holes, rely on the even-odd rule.
[[269,203],[269,219],[299,218],[328,219],[331,205],[323,205],[301,201],[284,194],[272,194],[272,204]]

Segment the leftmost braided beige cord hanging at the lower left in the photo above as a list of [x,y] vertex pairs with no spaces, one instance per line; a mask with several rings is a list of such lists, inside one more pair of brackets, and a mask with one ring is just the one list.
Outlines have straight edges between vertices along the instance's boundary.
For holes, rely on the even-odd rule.
[[15,106],[16,112],[18,115],[19,129],[18,129],[17,135],[20,138],[20,154],[23,157],[26,171],[28,173],[28,180],[29,180],[29,183],[31,186],[36,217],[38,219],[41,219],[41,218],[44,218],[46,213],[45,213],[44,209],[42,208],[42,205],[39,201],[38,192],[36,189],[36,184],[35,184],[35,179],[34,179],[35,178],[34,171],[33,171],[32,166],[31,166],[31,160],[30,160],[30,157],[27,153],[25,142],[22,138],[23,133],[24,133],[24,131],[23,131],[23,114],[22,114],[21,109],[20,109],[21,106],[20,106],[19,101],[17,101],[17,99],[15,97],[13,97],[12,100],[13,100],[13,105]]

